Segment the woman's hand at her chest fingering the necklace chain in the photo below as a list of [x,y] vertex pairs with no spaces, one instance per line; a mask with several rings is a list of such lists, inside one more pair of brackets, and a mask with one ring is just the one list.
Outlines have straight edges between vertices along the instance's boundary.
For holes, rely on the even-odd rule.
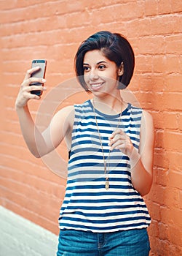
[[108,146],[110,146],[111,151],[115,148],[122,151],[122,153],[126,154],[128,157],[132,155],[134,146],[132,145],[130,137],[126,135],[122,129],[116,129],[108,140]]

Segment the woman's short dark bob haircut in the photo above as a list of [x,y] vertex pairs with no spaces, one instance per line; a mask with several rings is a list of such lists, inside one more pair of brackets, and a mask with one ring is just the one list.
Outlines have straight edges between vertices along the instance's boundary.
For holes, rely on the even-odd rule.
[[135,55],[133,53],[130,42],[122,36],[122,34],[111,33],[109,31],[100,31],[88,37],[82,42],[75,56],[75,72],[81,86],[85,91],[87,85],[84,81],[84,55],[90,50],[100,50],[110,61],[114,61],[116,67],[124,65],[124,73],[120,75],[118,89],[125,89],[132,78],[135,67]]

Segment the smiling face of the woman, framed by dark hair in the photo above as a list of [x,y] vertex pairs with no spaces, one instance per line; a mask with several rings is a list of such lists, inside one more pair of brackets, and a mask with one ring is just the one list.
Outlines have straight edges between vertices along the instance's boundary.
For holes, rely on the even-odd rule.
[[100,50],[90,50],[84,55],[84,81],[93,94],[114,94],[117,78],[121,70],[114,61],[110,61]]

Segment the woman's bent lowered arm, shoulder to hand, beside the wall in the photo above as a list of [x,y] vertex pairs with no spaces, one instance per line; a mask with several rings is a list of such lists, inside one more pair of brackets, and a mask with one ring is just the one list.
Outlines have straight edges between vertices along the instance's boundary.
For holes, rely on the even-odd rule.
[[132,185],[142,196],[148,194],[152,184],[154,154],[154,124],[151,115],[143,110],[139,152],[121,129],[117,129],[111,136],[110,146],[111,150],[120,149],[130,157]]

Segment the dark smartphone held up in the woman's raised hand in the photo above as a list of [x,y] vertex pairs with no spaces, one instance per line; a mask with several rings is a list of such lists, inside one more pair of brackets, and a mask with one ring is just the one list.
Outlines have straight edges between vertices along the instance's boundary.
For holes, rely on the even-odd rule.
[[[40,67],[39,70],[31,74],[31,78],[45,78],[45,72],[47,67],[47,61],[45,59],[33,59],[33,61],[31,62],[31,67]],[[44,84],[31,83],[30,86],[44,86]],[[36,94],[38,96],[41,96],[42,91],[39,91],[39,90],[31,91],[31,94]]]

